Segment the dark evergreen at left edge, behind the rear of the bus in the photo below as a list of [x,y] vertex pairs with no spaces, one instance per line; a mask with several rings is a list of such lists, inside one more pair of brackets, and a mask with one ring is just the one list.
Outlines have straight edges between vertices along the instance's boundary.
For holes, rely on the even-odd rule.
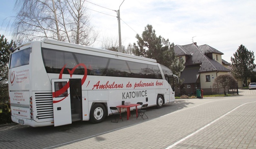
[[9,65],[9,57],[10,53],[8,50],[11,47],[15,47],[15,43],[11,41],[11,43],[7,42],[7,39],[4,35],[0,35],[0,103],[5,103],[8,101],[8,65]]

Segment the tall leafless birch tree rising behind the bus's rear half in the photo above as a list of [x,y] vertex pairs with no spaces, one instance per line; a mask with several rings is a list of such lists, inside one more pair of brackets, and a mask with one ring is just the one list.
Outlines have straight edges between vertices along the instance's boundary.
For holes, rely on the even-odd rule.
[[50,38],[91,45],[98,36],[84,0],[16,0],[15,8],[13,35],[20,42]]

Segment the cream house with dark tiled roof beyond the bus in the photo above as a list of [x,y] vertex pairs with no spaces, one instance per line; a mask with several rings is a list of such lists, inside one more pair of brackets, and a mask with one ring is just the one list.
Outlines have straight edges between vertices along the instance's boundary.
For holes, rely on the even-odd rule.
[[222,52],[207,44],[175,45],[174,51],[180,61],[184,60],[185,66],[180,74],[183,86],[175,90],[177,94],[191,95],[196,93],[196,89],[203,89],[204,94],[212,94],[214,79],[228,74],[230,63],[222,60]]

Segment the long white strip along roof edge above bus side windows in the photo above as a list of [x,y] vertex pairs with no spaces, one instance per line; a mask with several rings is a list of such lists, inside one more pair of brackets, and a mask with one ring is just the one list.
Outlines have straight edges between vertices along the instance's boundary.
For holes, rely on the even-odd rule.
[[121,52],[93,48],[93,47],[83,46],[83,45],[74,44],[74,43],[67,43],[64,41],[51,40],[51,39],[47,39],[47,38],[45,38],[42,42],[47,43],[47,44],[55,44],[58,46],[65,46],[65,47],[70,47],[70,48],[77,48],[77,49],[101,52],[101,53],[112,54],[112,55],[117,55],[117,56],[129,57],[129,58],[133,58],[133,59],[146,60],[149,62],[155,62],[155,63],[157,62],[155,59],[149,59],[146,57],[140,57],[140,56],[125,54],[125,53],[121,53]]

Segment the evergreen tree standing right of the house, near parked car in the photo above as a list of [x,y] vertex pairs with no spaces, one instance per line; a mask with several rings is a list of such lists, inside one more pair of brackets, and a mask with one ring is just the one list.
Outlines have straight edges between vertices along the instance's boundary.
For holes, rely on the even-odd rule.
[[254,64],[254,52],[248,51],[243,44],[239,46],[234,57],[231,57],[232,75],[238,80],[245,80],[245,86],[248,86],[247,80],[253,75],[256,68]]

